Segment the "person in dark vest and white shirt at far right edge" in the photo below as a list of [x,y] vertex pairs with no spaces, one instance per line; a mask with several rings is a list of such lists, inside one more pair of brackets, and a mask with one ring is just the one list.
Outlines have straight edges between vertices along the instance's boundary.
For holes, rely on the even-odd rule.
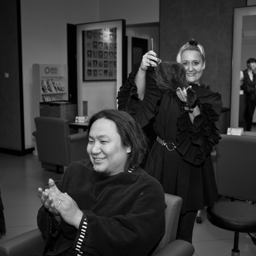
[[253,72],[256,68],[256,59],[247,60],[247,69],[240,72],[241,90],[246,95],[245,121],[246,131],[251,131],[253,114],[256,107],[256,74]]

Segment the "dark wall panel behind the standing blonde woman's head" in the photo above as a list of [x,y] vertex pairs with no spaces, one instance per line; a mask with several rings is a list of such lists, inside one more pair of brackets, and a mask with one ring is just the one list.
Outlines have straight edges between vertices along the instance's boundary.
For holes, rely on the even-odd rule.
[[160,0],[160,58],[175,61],[181,46],[197,39],[206,53],[201,84],[222,95],[230,107],[233,8],[246,0]]

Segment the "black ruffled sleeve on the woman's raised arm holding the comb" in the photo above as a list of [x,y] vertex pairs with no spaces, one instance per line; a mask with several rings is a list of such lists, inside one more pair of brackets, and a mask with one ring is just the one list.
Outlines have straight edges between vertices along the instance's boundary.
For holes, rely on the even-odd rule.
[[151,118],[156,116],[158,101],[161,99],[162,93],[158,89],[154,78],[151,76],[153,68],[148,68],[146,72],[144,98],[142,101],[138,98],[135,77],[139,67],[140,62],[133,66],[129,77],[119,89],[117,99],[118,110],[130,113],[138,121],[140,126],[143,127],[148,124]]

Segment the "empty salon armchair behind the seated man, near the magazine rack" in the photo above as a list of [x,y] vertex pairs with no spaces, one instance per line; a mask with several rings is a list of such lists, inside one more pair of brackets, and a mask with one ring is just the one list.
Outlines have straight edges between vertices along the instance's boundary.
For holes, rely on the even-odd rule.
[[[70,134],[69,121],[55,117],[35,117],[38,159],[42,163],[60,166],[89,158],[87,132]],[[64,168],[65,168],[64,167]]]

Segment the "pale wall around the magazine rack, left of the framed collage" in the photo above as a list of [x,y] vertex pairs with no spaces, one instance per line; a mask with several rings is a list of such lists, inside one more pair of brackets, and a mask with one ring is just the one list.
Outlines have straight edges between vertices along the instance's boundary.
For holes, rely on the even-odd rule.
[[[34,146],[32,65],[67,64],[67,24],[99,19],[99,0],[22,0],[25,148]],[[76,4],[74,4],[74,2]]]

